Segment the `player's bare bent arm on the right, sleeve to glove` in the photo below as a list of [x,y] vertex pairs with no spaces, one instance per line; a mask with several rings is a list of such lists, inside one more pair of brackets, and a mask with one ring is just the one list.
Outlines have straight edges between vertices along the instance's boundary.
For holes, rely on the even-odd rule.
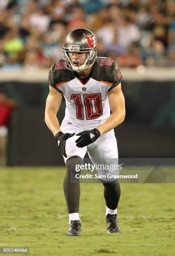
[[121,83],[108,92],[108,101],[112,114],[104,123],[96,127],[100,131],[100,135],[120,125],[125,119],[125,98]]

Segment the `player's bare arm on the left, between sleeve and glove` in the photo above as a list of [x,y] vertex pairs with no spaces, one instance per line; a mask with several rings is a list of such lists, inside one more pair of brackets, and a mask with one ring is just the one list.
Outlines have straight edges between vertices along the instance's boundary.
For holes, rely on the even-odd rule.
[[45,122],[55,136],[60,131],[60,124],[57,119],[57,112],[60,108],[62,93],[49,86],[49,95],[45,106]]

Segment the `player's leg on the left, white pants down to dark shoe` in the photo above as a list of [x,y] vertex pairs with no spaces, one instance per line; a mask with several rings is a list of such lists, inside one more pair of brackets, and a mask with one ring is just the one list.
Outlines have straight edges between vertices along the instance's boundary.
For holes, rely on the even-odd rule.
[[[79,127],[70,123],[68,124],[65,121],[62,122],[60,128],[64,133],[79,133],[82,131]],[[75,143],[76,139],[76,136],[69,138],[65,146],[67,158],[64,157],[66,174],[63,188],[69,213],[69,230],[67,236],[80,236],[81,231],[81,221],[79,217],[80,180],[76,179],[75,174],[77,173],[76,166],[80,166],[83,162],[87,147],[78,148]]]

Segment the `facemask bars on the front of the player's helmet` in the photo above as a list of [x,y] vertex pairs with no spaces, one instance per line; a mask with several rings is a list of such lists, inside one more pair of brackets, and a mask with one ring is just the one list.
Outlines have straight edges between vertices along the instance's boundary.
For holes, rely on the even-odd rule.
[[[70,52],[76,52],[76,51],[68,50],[63,46],[63,58],[65,59],[66,68],[76,72],[81,72],[82,70],[87,69],[88,67],[91,67],[94,64],[95,59],[97,57],[96,49],[87,49],[84,51],[77,51],[77,52],[86,52],[87,57],[86,59],[76,61],[79,64],[78,67],[76,67],[73,65],[73,62],[75,61],[70,60]],[[84,63],[80,66],[82,61],[84,61]]]

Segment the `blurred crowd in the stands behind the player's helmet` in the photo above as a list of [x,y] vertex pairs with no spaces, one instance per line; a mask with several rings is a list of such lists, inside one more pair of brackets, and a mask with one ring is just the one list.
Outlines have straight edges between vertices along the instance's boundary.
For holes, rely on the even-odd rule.
[[175,66],[174,0],[0,0],[0,69],[50,67],[75,28],[122,67]]

